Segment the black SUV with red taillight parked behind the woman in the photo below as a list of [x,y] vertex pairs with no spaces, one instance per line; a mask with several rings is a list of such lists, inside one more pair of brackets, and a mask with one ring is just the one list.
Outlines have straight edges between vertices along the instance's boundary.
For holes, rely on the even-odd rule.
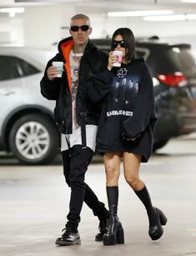
[[[109,38],[93,39],[108,53]],[[196,64],[189,44],[168,44],[155,38],[137,39],[136,54],[146,60],[153,77],[158,122],[153,150],[168,140],[196,131]]]

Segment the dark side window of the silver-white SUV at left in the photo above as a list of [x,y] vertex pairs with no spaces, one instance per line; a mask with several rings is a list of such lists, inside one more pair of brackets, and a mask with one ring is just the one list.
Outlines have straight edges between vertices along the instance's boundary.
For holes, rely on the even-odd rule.
[[0,81],[16,79],[40,71],[27,61],[14,56],[0,55]]

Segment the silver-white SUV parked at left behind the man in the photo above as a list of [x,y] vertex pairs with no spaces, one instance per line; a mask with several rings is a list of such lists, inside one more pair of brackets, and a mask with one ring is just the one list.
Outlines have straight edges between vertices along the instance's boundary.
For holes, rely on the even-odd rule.
[[26,164],[56,156],[59,136],[54,101],[43,98],[40,80],[54,49],[0,47],[0,150]]

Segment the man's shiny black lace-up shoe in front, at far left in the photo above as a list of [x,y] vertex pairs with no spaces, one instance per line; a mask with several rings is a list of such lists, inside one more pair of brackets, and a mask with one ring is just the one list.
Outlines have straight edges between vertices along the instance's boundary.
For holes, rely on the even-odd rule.
[[73,230],[72,228],[63,228],[64,233],[61,238],[57,238],[55,244],[58,245],[74,245],[81,244],[78,230]]

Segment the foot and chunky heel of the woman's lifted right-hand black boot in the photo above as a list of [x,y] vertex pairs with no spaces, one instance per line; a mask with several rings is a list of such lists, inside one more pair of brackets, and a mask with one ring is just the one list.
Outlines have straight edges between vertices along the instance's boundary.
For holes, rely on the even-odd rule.
[[167,223],[168,219],[164,213],[156,207],[152,207],[147,213],[149,219],[148,234],[152,240],[158,240],[163,235],[162,226]]

